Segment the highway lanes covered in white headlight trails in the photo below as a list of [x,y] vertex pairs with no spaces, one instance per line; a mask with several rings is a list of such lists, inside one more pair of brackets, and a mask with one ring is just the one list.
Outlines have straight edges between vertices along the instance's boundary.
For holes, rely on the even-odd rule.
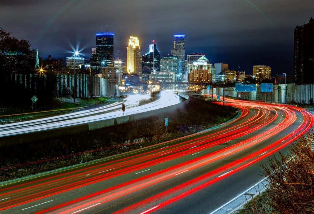
[[[130,95],[121,101],[115,101],[106,105],[95,105],[93,107],[73,111],[67,114],[2,124],[0,125],[0,137],[53,130],[99,120],[121,117],[123,115],[132,115],[150,110],[156,110],[181,102],[181,99],[178,97],[178,95],[173,94],[170,91],[162,91],[160,99],[141,105],[142,102],[149,100],[149,98],[150,97],[148,95]],[[124,114],[122,112],[122,104],[125,104],[126,106]]]

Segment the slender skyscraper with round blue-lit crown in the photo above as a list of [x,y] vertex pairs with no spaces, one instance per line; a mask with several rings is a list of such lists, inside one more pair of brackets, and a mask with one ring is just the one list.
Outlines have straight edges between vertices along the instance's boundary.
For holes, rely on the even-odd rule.
[[175,38],[173,40],[173,49],[171,50],[171,55],[178,56],[182,62],[182,80],[187,82],[187,69],[185,66],[185,35],[173,35]]

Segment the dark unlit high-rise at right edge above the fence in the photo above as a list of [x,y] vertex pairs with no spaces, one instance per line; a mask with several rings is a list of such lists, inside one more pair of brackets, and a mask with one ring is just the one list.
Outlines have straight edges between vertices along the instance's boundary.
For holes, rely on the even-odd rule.
[[314,18],[295,27],[293,67],[295,84],[313,84]]

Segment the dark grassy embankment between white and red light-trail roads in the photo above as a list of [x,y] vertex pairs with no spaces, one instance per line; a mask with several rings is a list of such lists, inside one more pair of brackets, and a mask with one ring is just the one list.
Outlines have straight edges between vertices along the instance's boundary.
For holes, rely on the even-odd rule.
[[[95,160],[129,150],[196,133],[219,125],[236,116],[234,108],[199,99],[188,99],[173,112],[146,119],[57,137],[27,144],[0,148],[0,181]],[[169,118],[165,133],[165,117]],[[123,145],[127,140],[143,142]],[[30,164],[31,162],[31,164]]]

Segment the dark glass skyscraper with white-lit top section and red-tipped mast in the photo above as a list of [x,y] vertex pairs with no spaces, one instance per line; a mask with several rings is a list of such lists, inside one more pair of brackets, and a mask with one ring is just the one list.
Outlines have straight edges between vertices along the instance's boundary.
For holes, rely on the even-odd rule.
[[150,44],[149,52],[142,56],[142,80],[148,81],[152,71],[160,71],[160,53],[155,43]]

